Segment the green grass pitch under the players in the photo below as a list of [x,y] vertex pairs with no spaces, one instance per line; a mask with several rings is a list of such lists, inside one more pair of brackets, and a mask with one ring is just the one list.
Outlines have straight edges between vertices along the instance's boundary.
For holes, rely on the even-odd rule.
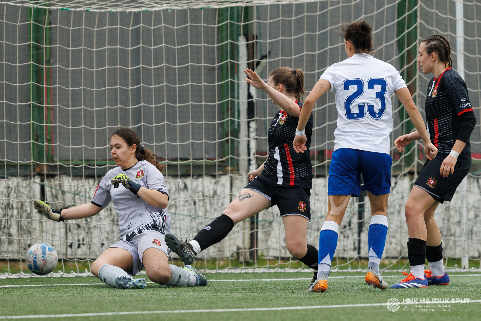
[[[4,319],[5,316],[27,315],[312,306],[323,307],[262,311],[97,315],[41,318],[36,320],[480,320],[481,302],[469,304],[451,303],[449,304],[450,307],[447,308],[449,311],[441,312],[413,311],[416,308],[419,310],[420,307],[402,304],[404,298],[481,299],[481,273],[451,272],[450,274],[452,277],[448,286],[380,291],[365,284],[363,278],[365,273],[333,272],[330,275],[329,288],[326,293],[307,293],[306,289],[309,280],[306,280],[306,278],[312,277],[312,274],[305,272],[207,273],[205,275],[210,282],[206,287],[168,288],[148,283],[143,290],[114,289],[101,283],[94,277],[7,279],[0,280],[0,320]],[[473,276],[472,274],[477,275]],[[395,275],[396,277],[389,277],[390,275]],[[353,278],[354,276],[360,277]],[[385,273],[384,276],[389,284],[404,278],[400,273]],[[262,281],[241,281],[254,279]],[[96,284],[5,286],[74,283]],[[391,298],[397,298],[401,302],[399,310],[395,312],[389,311],[385,305]],[[383,305],[365,306],[367,304]],[[361,306],[329,307],[334,305]],[[405,311],[405,308],[407,308],[407,311]],[[433,307],[430,308],[432,309]]]

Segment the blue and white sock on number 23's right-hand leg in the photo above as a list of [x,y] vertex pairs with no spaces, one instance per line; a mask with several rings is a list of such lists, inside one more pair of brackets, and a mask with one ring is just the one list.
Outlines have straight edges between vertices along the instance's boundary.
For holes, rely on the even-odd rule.
[[379,273],[379,264],[386,244],[388,233],[388,218],[385,215],[373,215],[367,232],[367,244],[369,248],[369,263],[367,268],[372,268]]

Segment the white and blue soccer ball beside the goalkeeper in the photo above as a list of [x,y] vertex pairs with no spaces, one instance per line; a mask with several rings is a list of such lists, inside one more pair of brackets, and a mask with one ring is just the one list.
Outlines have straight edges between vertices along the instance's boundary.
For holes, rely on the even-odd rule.
[[25,262],[33,273],[49,274],[57,266],[57,251],[47,243],[34,244],[28,249]]

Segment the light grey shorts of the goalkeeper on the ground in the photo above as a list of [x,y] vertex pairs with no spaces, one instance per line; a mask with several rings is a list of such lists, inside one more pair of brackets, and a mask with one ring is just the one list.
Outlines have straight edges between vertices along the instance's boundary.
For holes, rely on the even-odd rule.
[[[109,248],[111,247],[126,249],[132,254],[132,258],[134,259],[134,270],[132,271],[132,274],[129,273],[131,276],[138,274],[144,268],[142,265],[142,259],[145,250],[155,248],[161,250],[165,254],[169,253],[169,248],[167,247],[167,244],[165,244],[165,235],[154,230],[146,230],[145,232],[132,237],[128,241],[117,241],[109,246]],[[127,271],[127,273],[128,272],[129,271]]]

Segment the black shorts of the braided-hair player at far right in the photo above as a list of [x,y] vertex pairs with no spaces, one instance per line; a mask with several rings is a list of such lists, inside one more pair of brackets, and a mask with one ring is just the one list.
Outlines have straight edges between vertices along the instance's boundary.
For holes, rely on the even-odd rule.
[[455,166],[453,174],[450,173],[447,177],[443,177],[442,174],[439,174],[439,170],[444,159],[445,157],[438,155],[432,161],[427,160],[414,183],[415,186],[426,190],[434,200],[440,203],[453,199],[456,188],[469,173],[468,169]]

